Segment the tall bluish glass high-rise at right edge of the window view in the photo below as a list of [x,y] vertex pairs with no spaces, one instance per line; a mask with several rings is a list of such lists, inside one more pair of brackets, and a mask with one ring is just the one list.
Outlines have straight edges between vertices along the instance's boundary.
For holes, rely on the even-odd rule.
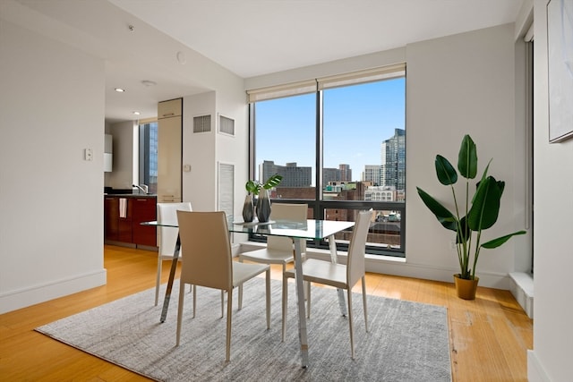
[[394,136],[381,144],[381,186],[406,190],[406,131],[395,129]]

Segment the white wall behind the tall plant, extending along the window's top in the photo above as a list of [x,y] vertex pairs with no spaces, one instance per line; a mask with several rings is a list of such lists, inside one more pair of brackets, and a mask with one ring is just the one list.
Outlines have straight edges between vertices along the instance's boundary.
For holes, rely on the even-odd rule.
[[[506,181],[498,223],[483,233],[494,238],[523,228],[525,135],[516,114],[516,55],[513,24],[427,40],[373,55],[313,65],[294,71],[247,79],[247,89],[303,81],[376,66],[406,62],[406,263],[367,259],[370,271],[452,282],[458,257],[450,249],[453,233],[444,230],[419,199],[421,186],[439,199],[449,189],[435,178],[433,161],[440,153],[457,164],[464,134],[475,140],[480,171],[494,158],[490,174]],[[518,59],[521,59],[519,57]],[[509,272],[527,263],[525,236],[496,250],[483,250],[478,265],[480,284],[509,288]],[[519,259],[519,260],[518,260]]]

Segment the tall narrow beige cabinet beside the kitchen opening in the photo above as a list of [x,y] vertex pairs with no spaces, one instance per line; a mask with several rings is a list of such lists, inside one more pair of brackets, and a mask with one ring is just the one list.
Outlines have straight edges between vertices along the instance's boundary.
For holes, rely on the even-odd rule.
[[158,201],[182,197],[183,99],[158,103]]

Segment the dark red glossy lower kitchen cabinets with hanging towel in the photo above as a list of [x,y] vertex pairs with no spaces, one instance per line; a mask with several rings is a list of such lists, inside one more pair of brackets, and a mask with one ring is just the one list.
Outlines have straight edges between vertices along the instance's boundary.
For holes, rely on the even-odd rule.
[[104,198],[105,241],[156,247],[156,228],[141,225],[141,222],[156,220],[156,206],[155,197],[107,195]]

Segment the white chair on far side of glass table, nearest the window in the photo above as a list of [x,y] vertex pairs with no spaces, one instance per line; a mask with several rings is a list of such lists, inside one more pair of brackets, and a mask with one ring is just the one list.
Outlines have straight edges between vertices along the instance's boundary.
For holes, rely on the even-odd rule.
[[[270,220],[305,223],[307,214],[308,204],[272,203]],[[303,243],[302,252],[306,252],[306,242]],[[293,240],[290,237],[268,236],[266,248],[240,253],[239,262],[244,260],[261,264],[280,264],[284,274],[286,265],[295,260]],[[239,285],[239,309],[241,308],[243,308],[243,286]],[[285,310],[286,307],[283,306],[282,309]],[[282,340],[285,340],[284,333]]]

